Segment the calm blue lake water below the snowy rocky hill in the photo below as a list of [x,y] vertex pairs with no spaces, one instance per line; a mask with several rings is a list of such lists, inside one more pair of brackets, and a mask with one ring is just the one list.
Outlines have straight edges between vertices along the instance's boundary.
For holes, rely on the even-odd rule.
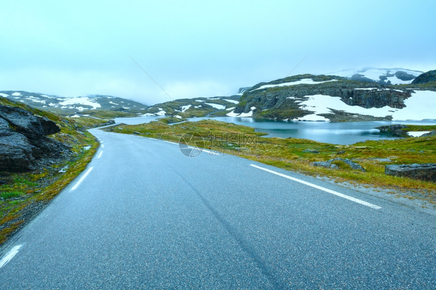
[[[116,122],[130,125],[148,123],[162,116],[143,116],[134,118],[116,118]],[[192,121],[214,119],[237,125],[253,127],[257,132],[268,133],[266,137],[302,138],[331,144],[349,145],[366,140],[396,139],[381,135],[378,126],[436,125],[436,120],[422,121],[373,121],[373,122],[316,122],[316,121],[276,121],[248,117],[191,118]]]

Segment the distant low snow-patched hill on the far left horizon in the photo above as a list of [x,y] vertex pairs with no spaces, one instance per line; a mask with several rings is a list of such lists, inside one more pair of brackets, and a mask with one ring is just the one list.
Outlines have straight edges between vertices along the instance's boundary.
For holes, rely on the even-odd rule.
[[62,115],[80,114],[96,110],[142,114],[148,108],[148,106],[135,101],[101,95],[59,97],[24,91],[0,91],[0,96],[21,102],[33,108],[54,111]]

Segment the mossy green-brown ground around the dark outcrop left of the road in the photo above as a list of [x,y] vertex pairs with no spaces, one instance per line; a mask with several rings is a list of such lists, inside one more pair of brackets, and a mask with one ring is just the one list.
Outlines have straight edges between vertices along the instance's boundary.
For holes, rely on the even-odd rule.
[[0,173],[0,244],[39,213],[69,182],[76,178],[94,156],[99,144],[86,131],[108,120],[89,117],[66,118],[0,98],[0,104],[21,107],[45,116],[61,128],[50,138],[70,146],[71,154],[62,163],[29,173]]

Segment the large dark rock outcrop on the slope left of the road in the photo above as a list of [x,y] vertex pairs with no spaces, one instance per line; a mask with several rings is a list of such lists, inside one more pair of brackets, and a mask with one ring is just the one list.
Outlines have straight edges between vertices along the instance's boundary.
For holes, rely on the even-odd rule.
[[47,137],[58,132],[45,117],[0,105],[0,172],[26,172],[47,158],[59,158],[67,145]]

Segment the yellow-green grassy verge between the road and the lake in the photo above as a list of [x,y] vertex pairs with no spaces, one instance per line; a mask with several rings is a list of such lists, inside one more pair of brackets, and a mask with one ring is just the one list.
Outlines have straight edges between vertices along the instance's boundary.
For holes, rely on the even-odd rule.
[[[311,176],[329,177],[337,182],[390,189],[397,196],[420,198],[436,205],[435,183],[384,174],[386,164],[434,162],[436,136],[334,145],[305,139],[264,138],[263,133],[255,132],[253,128],[216,120],[187,121],[172,126],[150,122],[114,126],[105,130],[124,134],[136,132],[135,134],[144,134],[150,138],[174,142],[178,142],[184,134],[196,133],[201,137],[194,136],[191,145],[203,144],[204,148]],[[313,153],[313,150],[318,153]],[[335,157],[351,159],[366,171],[353,170],[340,161],[336,162],[339,170],[312,165],[314,161],[326,161]]]

